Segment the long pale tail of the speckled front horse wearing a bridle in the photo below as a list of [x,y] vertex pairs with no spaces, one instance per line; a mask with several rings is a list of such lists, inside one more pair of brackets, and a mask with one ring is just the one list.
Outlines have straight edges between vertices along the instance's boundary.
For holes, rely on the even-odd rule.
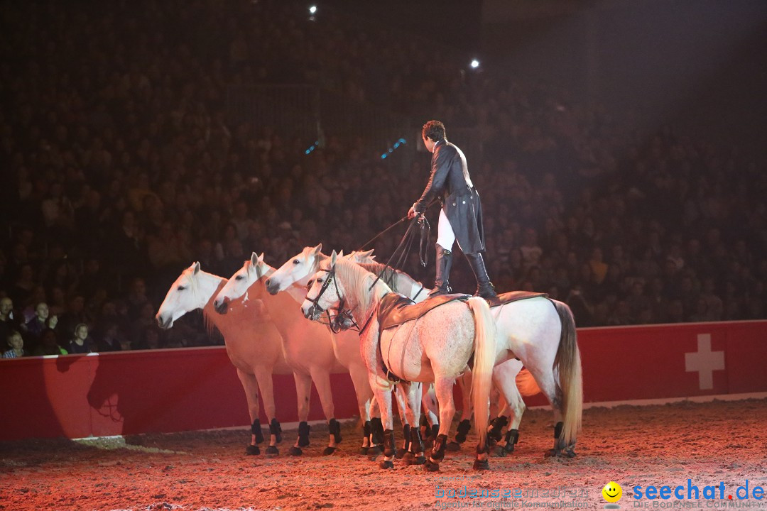
[[477,453],[487,447],[489,423],[489,397],[492,387],[492,368],[495,366],[495,319],[484,298],[472,296],[467,302],[474,315],[474,367],[472,369],[472,401],[474,422],[479,433]]

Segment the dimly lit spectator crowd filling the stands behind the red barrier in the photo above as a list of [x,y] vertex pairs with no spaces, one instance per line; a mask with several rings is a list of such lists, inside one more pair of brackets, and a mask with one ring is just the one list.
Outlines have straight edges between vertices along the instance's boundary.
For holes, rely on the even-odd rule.
[[[466,74],[449,51],[308,21],[293,2],[34,0],[0,16],[4,357],[219,343],[199,316],[155,324],[184,267],[229,276],[252,251],[279,266],[305,245],[354,250],[423,190],[427,153],[403,169],[331,131],[306,154],[292,133],[232,125],[232,84],[313,84],[443,120],[449,139],[472,128],[496,288],[565,300],[579,326],[767,313],[767,172],[736,148],[645,136],[637,113]],[[378,259],[398,241],[379,238]],[[456,266],[453,287],[472,291]],[[433,279],[415,254],[404,269]]]

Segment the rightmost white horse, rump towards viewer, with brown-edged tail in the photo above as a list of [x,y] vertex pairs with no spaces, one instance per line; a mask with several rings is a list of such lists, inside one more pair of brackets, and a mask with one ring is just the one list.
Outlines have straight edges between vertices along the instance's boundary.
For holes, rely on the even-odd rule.
[[[412,278],[400,271],[395,280],[406,290],[420,285],[409,282]],[[570,308],[543,295],[493,304],[491,314],[499,349],[493,383],[506,405],[492,421],[489,436],[499,441],[502,428],[509,425],[499,454],[512,452],[518,441],[517,428],[525,411],[519,390],[522,389],[522,395],[542,391],[554,410],[554,447],[546,455],[574,457],[581,427],[583,384],[581,355]],[[527,370],[520,372],[522,365]]]

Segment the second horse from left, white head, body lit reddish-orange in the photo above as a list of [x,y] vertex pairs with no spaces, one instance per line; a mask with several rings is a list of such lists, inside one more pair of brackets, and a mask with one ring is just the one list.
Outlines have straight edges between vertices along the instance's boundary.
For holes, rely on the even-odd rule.
[[[360,254],[360,257],[370,254]],[[330,444],[324,454],[332,454],[337,442],[341,441],[340,424],[334,418],[333,396],[331,395],[331,373],[348,372],[357,395],[357,407],[360,419],[364,421],[364,438],[360,454],[370,452],[371,434],[374,425],[371,424],[371,403],[373,391],[367,382],[367,370],[360,359],[360,347],[357,334],[341,332],[332,335],[331,331],[318,323],[310,323],[301,316],[299,305],[303,301],[304,290],[298,287],[288,287],[286,293],[272,296],[266,293],[263,281],[268,278],[274,268],[264,262],[263,254],[252,254],[229,279],[229,282],[216,293],[213,306],[219,313],[225,313],[232,300],[245,296],[252,300],[262,300],[271,313],[283,338],[285,359],[295,368],[296,391],[298,392],[299,441],[291,449],[291,454],[301,454],[300,447],[308,445],[310,427],[306,422],[309,411],[309,396],[311,382],[320,395],[322,409],[328,420],[331,433]],[[375,422],[375,421],[373,421]],[[305,434],[303,434],[305,433]]]

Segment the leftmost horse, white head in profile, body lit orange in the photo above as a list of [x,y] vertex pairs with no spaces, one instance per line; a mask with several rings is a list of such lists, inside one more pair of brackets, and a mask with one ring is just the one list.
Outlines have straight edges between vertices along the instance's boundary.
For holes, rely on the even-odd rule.
[[282,355],[282,338],[268,316],[262,302],[253,300],[239,307],[230,316],[213,313],[212,298],[224,286],[226,279],[207,274],[199,263],[183,270],[173,283],[157,311],[157,323],[170,329],[176,319],[192,310],[202,309],[206,325],[212,323],[222,333],[226,354],[237,369],[237,376],[245,390],[251,420],[251,443],[245,454],[259,454],[258,444],[264,441],[258,420],[258,390],[269,421],[271,440],[267,456],[276,456],[276,444],[281,441],[280,424],[275,418],[275,397],[272,375],[289,375],[291,369]]

